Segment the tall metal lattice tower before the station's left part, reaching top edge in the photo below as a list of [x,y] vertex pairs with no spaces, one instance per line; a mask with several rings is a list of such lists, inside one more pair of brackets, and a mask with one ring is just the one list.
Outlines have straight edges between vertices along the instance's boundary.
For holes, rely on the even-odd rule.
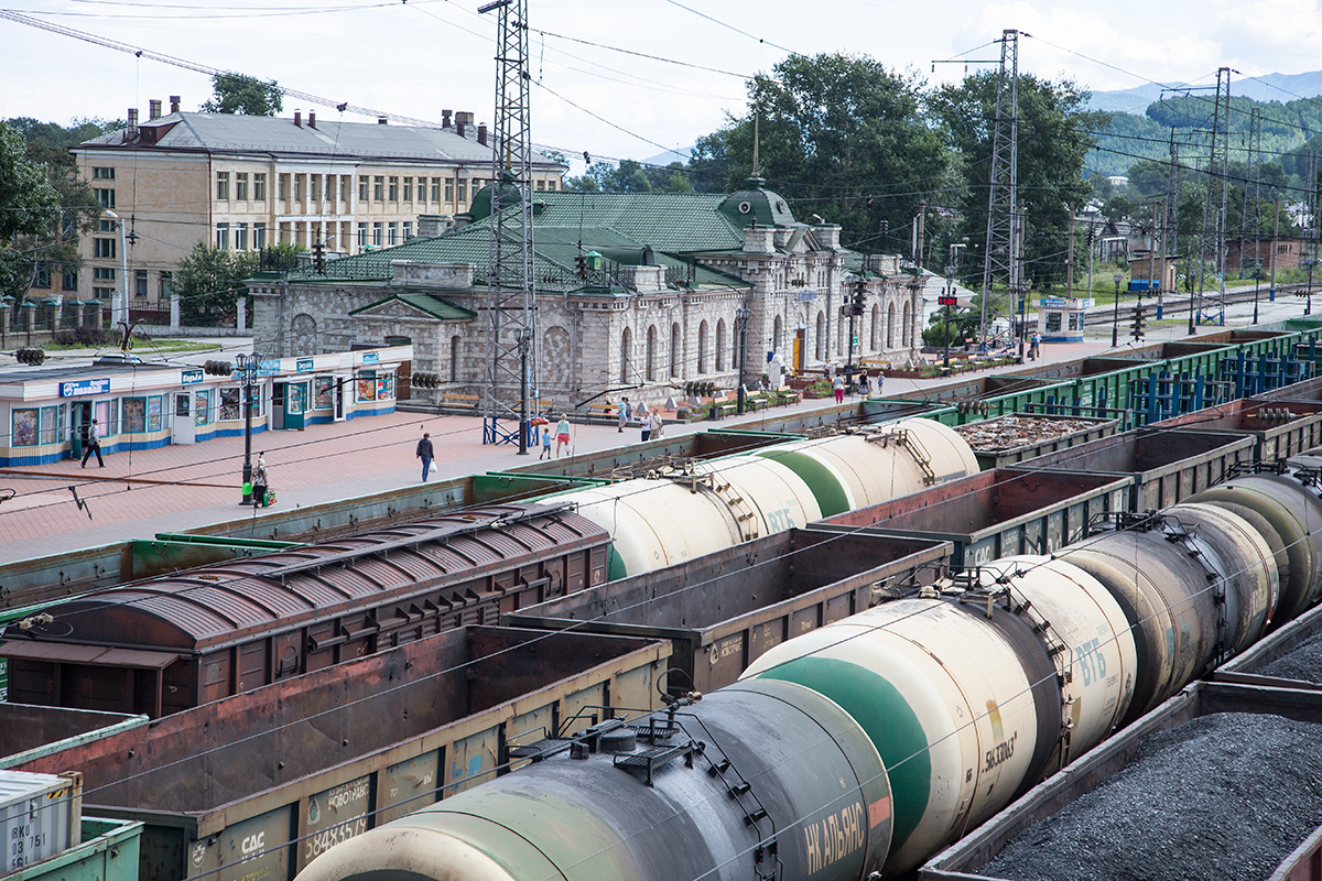
[[529,394],[538,396],[527,0],[496,0],[477,11],[498,12],[483,442],[517,442],[524,453],[527,432],[518,427],[527,424]]

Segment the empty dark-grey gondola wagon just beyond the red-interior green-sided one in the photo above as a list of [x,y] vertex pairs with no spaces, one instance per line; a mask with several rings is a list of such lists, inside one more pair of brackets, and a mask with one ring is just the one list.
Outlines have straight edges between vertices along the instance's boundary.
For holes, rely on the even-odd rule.
[[1136,428],[1101,440],[1047,453],[1022,468],[1133,478],[1129,510],[1170,507],[1224,479],[1253,461],[1256,440],[1187,428]]

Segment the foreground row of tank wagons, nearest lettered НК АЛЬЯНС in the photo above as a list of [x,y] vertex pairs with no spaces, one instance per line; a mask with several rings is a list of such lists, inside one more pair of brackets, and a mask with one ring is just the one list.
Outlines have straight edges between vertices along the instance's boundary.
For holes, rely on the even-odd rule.
[[771,649],[743,679],[521,749],[299,881],[903,873],[1322,592],[1311,474],[1117,514]]

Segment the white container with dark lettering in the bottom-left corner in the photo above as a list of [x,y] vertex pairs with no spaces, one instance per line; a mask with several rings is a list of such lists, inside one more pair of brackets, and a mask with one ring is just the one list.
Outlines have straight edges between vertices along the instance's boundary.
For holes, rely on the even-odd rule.
[[82,774],[0,770],[0,874],[56,856],[82,840]]

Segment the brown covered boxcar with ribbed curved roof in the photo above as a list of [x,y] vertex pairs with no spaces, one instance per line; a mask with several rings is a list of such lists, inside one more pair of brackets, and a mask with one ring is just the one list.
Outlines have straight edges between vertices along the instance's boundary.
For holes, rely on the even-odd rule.
[[608,540],[493,505],[97,590],[5,630],[9,699],[157,719],[600,584]]

